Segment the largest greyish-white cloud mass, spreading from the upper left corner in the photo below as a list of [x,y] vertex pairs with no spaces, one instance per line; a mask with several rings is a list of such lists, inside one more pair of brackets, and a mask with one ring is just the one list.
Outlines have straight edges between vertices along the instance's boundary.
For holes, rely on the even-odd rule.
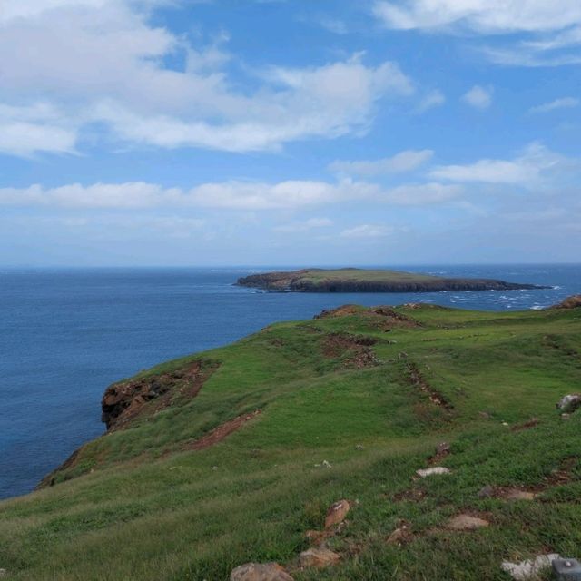
[[[89,123],[130,144],[271,150],[294,140],[361,133],[379,100],[414,92],[397,64],[368,66],[360,54],[300,69],[249,71],[249,86],[256,87],[249,90],[240,79],[231,81],[232,57],[224,39],[192,46],[185,37],[150,24],[153,4],[5,0],[0,19],[3,126],[22,123],[17,109],[34,103],[66,114],[56,119],[38,114],[35,133],[28,127],[21,139],[6,131],[2,150],[70,151]],[[184,61],[182,69],[170,68],[168,57]],[[57,136],[52,147],[45,143],[46,132]]]

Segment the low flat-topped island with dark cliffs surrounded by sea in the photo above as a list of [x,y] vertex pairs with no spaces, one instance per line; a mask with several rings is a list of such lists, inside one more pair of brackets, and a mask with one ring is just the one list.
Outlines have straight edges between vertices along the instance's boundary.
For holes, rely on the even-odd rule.
[[236,284],[265,291],[300,292],[518,291],[547,288],[494,279],[444,278],[416,272],[354,268],[263,272],[242,277]]

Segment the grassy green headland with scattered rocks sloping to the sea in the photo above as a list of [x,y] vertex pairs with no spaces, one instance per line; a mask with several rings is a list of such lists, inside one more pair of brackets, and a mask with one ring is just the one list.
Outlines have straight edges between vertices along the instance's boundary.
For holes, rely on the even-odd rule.
[[105,391],[103,437],[0,503],[3,576],[501,581],[579,556],[580,355],[574,297],[346,305],[163,363]]

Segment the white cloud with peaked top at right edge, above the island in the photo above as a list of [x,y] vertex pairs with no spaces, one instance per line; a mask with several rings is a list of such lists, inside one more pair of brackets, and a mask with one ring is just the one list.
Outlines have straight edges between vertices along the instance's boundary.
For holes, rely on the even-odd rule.
[[521,186],[538,184],[550,177],[559,178],[578,162],[554,153],[541,143],[530,143],[513,160],[479,160],[467,165],[445,165],[430,172],[433,178],[452,182],[506,183]]

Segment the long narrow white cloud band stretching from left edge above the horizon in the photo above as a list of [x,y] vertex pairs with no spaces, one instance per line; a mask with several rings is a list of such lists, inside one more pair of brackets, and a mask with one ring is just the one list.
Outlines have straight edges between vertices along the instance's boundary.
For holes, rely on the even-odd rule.
[[[44,188],[0,189],[0,205],[58,208],[131,210],[136,208],[218,208],[261,211],[294,210],[338,202],[376,202],[394,205],[424,205],[458,197],[454,184],[411,184],[385,190],[368,182],[213,182],[189,190],[164,188],[147,182],[79,183]],[[302,223],[300,227],[322,227],[326,219]],[[297,224],[294,224],[297,227]]]

